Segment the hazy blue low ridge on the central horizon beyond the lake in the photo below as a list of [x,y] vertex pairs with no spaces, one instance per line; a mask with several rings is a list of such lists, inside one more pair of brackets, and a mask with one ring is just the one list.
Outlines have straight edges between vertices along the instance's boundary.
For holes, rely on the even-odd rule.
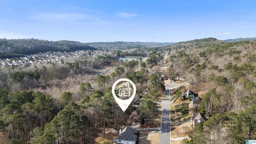
[[143,48],[153,48],[169,46],[174,44],[173,42],[92,42],[86,43],[89,46],[101,49],[125,49],[131,47],[143,47]]

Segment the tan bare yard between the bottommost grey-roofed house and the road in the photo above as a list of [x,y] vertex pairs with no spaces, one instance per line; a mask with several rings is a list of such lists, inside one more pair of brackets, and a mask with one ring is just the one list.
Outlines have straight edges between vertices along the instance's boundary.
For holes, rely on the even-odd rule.
[[145,138],[139,138],[138,144],[158,144],[159,143],[159,133],[155,132],[145,132],[140,131],[139,137],[146,136]]

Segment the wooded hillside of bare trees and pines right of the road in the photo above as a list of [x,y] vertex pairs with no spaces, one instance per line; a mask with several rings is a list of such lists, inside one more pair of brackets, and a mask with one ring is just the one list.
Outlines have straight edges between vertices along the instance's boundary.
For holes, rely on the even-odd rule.
[[169,76],[184,76],[192,89],[205,91],[193,107],[209,119],[183,144],[243,144],[256,139],[256,41],[204,38],[166,47]]

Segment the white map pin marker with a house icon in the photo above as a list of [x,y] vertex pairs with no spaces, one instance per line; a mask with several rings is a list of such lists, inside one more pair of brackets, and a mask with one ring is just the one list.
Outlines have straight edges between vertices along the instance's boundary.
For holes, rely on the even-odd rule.
[[[116,89],[116,85],[119,83],[119,82],[124,82],[122,83],[118,88],[118,95],[121,97],[128,97],[131,95],[131,91],[133,90],[133,93],[132,93],[132,96],[126,100],[122,100],[120,98],[118,98],[116,96],[116,92],[115,92],[115,89]],[[132,84],[132,87],[133,88],[130,88],[130,84]],[[127,79],[127,78],[121,78],[119,80],[117,80],[113,86],[112,86],[112,94],[114,96],[114,99],[116,100],[116,103],[118,104],[118,106],[120,106],[120,108],[123,110],[123,112],[125,112],[125,110],[128,108],[128,106],[131,104],[133,98],[135,97],[135,94],[136,94],[136,86],[135,84]]]

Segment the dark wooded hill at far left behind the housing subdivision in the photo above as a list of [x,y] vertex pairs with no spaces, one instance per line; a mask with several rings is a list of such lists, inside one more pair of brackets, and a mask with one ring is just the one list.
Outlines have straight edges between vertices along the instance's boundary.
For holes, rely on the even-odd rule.
[[74,41],[48,41],[38,39],[0,39],[0,56],[6,54],[33,54],[47,51],[96,50],[88,44]]

